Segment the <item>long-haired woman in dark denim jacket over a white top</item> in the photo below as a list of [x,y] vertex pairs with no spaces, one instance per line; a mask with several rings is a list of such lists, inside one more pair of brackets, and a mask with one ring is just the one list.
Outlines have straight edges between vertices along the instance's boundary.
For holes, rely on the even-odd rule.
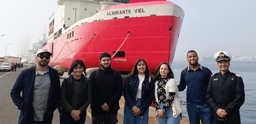
[[154,81],[144,59],[138,59],[124,83],[123,124],[148,124],[154,98]]

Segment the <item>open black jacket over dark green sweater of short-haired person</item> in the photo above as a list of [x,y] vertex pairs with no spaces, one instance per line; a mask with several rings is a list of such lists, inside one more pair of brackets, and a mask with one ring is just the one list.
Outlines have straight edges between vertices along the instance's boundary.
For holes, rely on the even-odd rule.
[[[74,77],[73,77],[73,75],[70,75],[68,78],[65,78],[63,84],[66,87],[66,94],[63,95],[63,93],[61,92],[60,101],[61,101],[61,103],[67,102],[71,105],[72,99],[73,99],[73,92],[74,92]],[[61,90],[62,90],[62,88],[63,88],[63,86],[61,86]],[[89,106],[89,104],[91,102],[92,94],[91,94],[90,80],[87,79],[86,77],[84,77],[83,75],[82,75],[82,82],[81,82],[80,88],[81,88],[81,92],[80,92],[80,98],[79,98],[79,108],[81,108],[84,105],[85,107],[83,107],[83,108],[85,110],[83,110],[83,112],[82,112],[82,110],[80,110],[81,113],[79,114],[79,116],[80,116],[80,118],[85,118],[86,117],[86,108]],[[60,111],[60,117],[66,118],[66,117],[68,117],[68,115],[70,116],[70,113],[67,111],[67,108],[63,107],[63,104],[61,104],[59,111]]]

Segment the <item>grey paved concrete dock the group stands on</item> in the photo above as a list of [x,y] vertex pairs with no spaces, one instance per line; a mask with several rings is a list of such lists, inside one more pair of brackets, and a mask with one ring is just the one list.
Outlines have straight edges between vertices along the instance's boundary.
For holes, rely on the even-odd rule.
[[[10,97],[10,91],[13,87],[16,78],[20,74],[21,70],[29,68],[29,64],[24,64],[23,68],[17,68],[17,71],[11,72],[0,72],[0,124],[17,124],[19,119],[20,110],[14,105]],[[122,97],[119,101],[120,110],[118,111],[118,123],[123,124],[123,108],[124,108],[124,98]],[[159,124],[156,123],[154,118],[155,110],[153,107],[149,108],[149,124]],[[59,124],[59,112],[54,111],[52,124]],[[91,113],[90,107],[87,108],[87,117],[85,124],[91,124]],[[189,124],[186,118],[183,118],[180,124]]]

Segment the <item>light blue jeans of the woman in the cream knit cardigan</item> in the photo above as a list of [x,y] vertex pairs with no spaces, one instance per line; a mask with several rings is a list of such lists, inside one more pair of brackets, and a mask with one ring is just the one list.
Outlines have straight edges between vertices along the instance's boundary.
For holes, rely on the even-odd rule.
[[[160,109],[162,109],[163,106],[164,104],[160,103]],[[170,106],[165,113],[165,118],[157,116],[159,124],[180,124],[180,114],[176,118],[172,115],[172,106]]]

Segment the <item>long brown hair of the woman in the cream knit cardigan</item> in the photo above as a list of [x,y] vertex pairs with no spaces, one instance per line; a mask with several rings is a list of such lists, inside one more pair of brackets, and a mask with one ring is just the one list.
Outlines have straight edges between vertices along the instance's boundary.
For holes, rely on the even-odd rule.
[[170,65],[169,65],[168,63],[166,63],[166,62],[162,62],[162,63],[161,63],[160,65],[158,65],[158,66],[156,67],[156,69],[154,70],[154,74],[153,74],[154,81],[157,81],[157,80],[159,80],[159,79],[161,78],[161,75],[160,75],[159,70],[160,70],[161,65],[163,65],[163,64],[166,64],[167,67],[168,67],[168,70],[169,70],[169,72],[167,73],[167,78],[174,78],[173,71],[172,71]]

